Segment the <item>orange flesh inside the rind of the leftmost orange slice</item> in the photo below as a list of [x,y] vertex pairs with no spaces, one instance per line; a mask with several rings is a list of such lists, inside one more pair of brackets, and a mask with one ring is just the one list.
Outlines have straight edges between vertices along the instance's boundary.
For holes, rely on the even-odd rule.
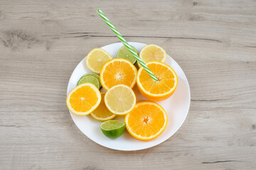
[[71,107],[78,112],[90,111],[97,101],[97,94],[90,86],[82,86],[80,89],[74,91],[70,96]]

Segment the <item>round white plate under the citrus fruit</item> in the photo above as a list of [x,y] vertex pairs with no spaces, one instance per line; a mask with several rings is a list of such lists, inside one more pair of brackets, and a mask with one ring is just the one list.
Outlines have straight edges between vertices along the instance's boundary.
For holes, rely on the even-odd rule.
[[[138,52],[142,49],[142,47],[146,45],[139,42],[129,42],[129,44],[134,46]],[[117,51],[119,50],[120,47],[122,47],[121,42],[106,45],[102,47],[102,49],[109,52],[110,55],[114,58],[117,56]],[[190,106],[191,94],[190,94],[190,89],[188,85],[188,80],[186,79],[186,75],[184,74],[181,67],[179,67],[177,62],[175,62],[174,59],[172,59],[168,55],[165,63],[169,64],[169,66],[171,66],[175,70],[176,74],[178,75],[178,86],[176,91],[170,98],[168,98],[166,101],[157,102],[165,109],[168,115],[168,124],[166,126],[166,129],[161,135],[159,135],[159,137],[156,137],[156,139],[154,140],[145,142],[145,141],[136,140],[134,137],[129,135],[127,130],[124,130],[124,133],[122,134],[121,137],[118,137],[117,139],[112,140],[108,137],[105,137],[105,135],[103,135],[103,133],[100,130],[101,122],[93,119],[91,115],[81,116],[81,115],[74,115],[73,113],[70,112],[70,115],[73,118],[75,125],[77,125],[78,128],[83,132],[83,134],[89,137],[92,141],[104,147],[108,147],[110,149],[125,150],[125,151],[146,149],[149,147],[154,147],[156,145],[159,145],[161,142],[164,142],[165,140],[169,139],[169,137],[174,135],[174,133],[179,128],[181,128],[181,125],[186,119],[186,116],[188,114],[188,109]],[[87,66],[85,64],[85,59],[83,59],[78,64],[78,66],[75,67],[75,70],[70,77],[70,81],[68,82],[67,95],[72,89],[75,88],[75,86],[77,86],[78,80],[80,79],[80,77],[82,77],[82,75],[87,72],[91,72],[91,71],[87,69]],[[102,91],[104,91],[103,88],[102,88]],[[134,92],[137,96],[137,101],[146,100],[146,98],[144,98],[142,94],[139,94],[137,86],[134,87]],[[121,116],[115,119],[124,121],[124,118]]]

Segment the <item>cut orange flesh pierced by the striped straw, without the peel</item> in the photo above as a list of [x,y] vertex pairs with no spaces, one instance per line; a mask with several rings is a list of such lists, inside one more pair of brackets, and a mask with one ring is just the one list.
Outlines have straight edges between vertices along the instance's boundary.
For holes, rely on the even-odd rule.
[[174,88],[175,77],[171,70],[166,69],[163,65],[147,64],[151,72],[159,79],[159,81],[154,81],[149,74],[142,69],[139,75],[139,82],[142,84],[144,89],[149,91],[151,94],[165,94]]

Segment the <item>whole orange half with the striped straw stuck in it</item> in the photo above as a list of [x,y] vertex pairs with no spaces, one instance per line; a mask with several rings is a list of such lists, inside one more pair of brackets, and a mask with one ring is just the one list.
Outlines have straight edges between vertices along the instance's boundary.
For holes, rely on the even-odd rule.
[[150,101],[163,101],[174,94],[178,85],[178,77],[174,69],[156,61],[147,62],[146,66],[159,81],[154,81],[141,67],[137,75],[137,86],[142,95]]

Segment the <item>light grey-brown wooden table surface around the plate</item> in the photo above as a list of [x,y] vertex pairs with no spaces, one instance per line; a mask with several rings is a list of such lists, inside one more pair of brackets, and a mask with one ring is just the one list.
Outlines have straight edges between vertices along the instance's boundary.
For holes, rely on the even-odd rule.
[[[92,48],[160,45],[191,87],[185,123],[161,145],[107,149],[65,105]],[[256,169],[256,1],[0,0],[0,169]]]

